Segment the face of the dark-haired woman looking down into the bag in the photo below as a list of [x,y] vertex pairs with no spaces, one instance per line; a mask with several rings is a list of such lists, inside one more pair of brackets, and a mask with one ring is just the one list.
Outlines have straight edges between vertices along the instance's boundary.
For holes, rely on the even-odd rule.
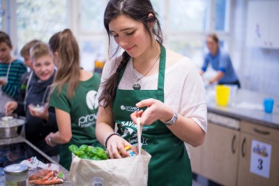
[[144,24],[137,22],[126,15],[119,15],[109,23],[110,35],[115,42],[123,48],[131,57],[137,57],[144,53],[150,46],[148,31]]

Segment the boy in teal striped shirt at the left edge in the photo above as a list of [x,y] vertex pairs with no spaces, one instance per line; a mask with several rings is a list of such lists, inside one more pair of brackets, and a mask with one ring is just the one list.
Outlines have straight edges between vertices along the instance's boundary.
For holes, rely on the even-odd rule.
[[20,88],[20,77],[27,72],[22,61],[14,59],[10,52],[12,42],[7,33],[0,31],[0,113],[4,113],[4,105],[10,100],[17,100]]

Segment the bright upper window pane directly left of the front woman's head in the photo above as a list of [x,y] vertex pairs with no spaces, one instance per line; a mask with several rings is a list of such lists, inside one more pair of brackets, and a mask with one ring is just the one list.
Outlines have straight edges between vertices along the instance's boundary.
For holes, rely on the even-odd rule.
[[82,0],[81,29],[82,31],[103,31],[103,16],[106,1]]

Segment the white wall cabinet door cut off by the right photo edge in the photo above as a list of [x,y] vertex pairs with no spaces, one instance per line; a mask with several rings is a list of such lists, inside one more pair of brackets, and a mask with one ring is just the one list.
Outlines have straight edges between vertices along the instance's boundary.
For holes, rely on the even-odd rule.
[[278,37],[278,31],[279,31],[279,1],[273,1],[271,2],[271,11],[270,11],[270,30],[269,30],[269,45],[273,48],[279,48],[279,37]]

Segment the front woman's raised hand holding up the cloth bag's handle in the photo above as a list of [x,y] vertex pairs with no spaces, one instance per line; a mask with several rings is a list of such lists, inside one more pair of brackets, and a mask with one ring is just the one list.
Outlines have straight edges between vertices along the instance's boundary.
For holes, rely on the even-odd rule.
[[137,118],[141,117],[142,125],[151,125],[157,120],[169,121],[169,118],[172,118],[173,115],[171,107],[152,98],[138,102],[136,107],[147,107],[145,111],[135,111],[130,115],[133,123],[137,123]]

